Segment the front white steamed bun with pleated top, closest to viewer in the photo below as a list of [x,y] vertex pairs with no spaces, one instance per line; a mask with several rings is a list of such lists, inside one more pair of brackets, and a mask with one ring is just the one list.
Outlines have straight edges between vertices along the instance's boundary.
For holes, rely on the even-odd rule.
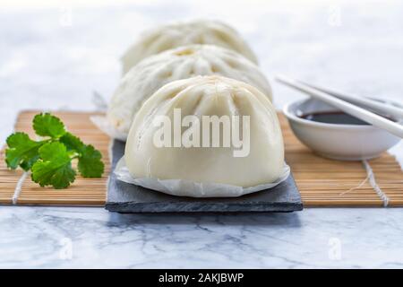
[[[153,121],[159,116],[167,116],[173,123],[174,109],[181,110],[182,119],[187,115],[199,118],[249,116],[249,154],[234,157],[234,151],[239,149],[233,145],[158,147],[153,137],[160,126]],[[241,129],[247,128],[241,126]],[[182,128],[183,135],[188,128]],[[244,135],[243,131],[239,133]],[[202,137],[200,133],[200,143]],[[174,136],[171,140],[174,141]],[[167,83],[144,103],[134,118],[124,160],[136,178],[185,179],[253,187],[274,182],[281,176],[284,145],[276,111],[261,91],[233,79],[198,76]]]

